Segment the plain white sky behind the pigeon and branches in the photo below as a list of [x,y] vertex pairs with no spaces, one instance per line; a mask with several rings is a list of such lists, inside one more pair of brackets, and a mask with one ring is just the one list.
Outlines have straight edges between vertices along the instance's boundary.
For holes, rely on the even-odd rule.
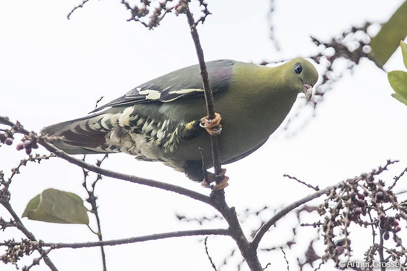
[[[333,5],[330,1],[276,1],[272,21],[282,47],[277,52],[269,40],[269,1],[208,2],[212,15],[198,27],[206,60],[230,58],[257,63],[310,55],[315,52],[310,35],[327,39],[366,20],[385,21],[402,3],[341,1]],[[148,31],[126,21],[129,14],[119,1],[91,0],[67,20],[68,12],[79,3],[0,0],[0,115],[8,115],[12,121],[18,119],[26,129],[38,132],[44,126],[85,115],[100,96],[105,96],[102,103],[106,103],[140,83],[197,63],[184,16],[168,14],[160,27]],[[399,50],[386,69],[405,70]],[[391,179],[398,175],[407,166],[407,107],[393,99],[391,93],[386,73],[373,63],[362,61],[352,75],[347,73],[335,84],[318,107],[316,117],[296,136],[287,139],[280,129],[253,155],[226,166],[230,177],[226,188],[229,206],[236,206],[238,212],[264,205],[278,208],[312,193],[284,178],[284,173],[325,187],[383,165],[386,159],[400,159],[387,176]],[[310,117],[307,110],[302,115],[301,120]],[[15,143],[0,149],[0,168],[6,174],[26,157],[24,152],[15,150]],[[42,147],[37,152],[46,153]],[[96,157],[88,158],[93,161]],[[171,168],[138,162],[128,155],[111,155],[103,167],[204,194],[210,192]],[[80,168],[61,159],[44,161],[40,166],[29,164],[13,180],[11,203],[21,215],[28,200],[50,187],[85,198],[82,177]],[[400,180],[396,191],[406,189],[404,182],[405,179]],[[188,217],[213,216],[216,212],[175,193],[109,178],[98,183],[96,193],[104,239],[226,226],[178,222],[175,212]],[[9,218],[4,208],[0,208],[0,216]],[[313,222],[312,217],[309,219]],[[27,219],[23,222],[46,242],[97,239],[83,225]],[[292,219],[280,221],[260,246],[283,244],[290,238],[293,225]],[[248,222],[244,229],[250,234],[257,226]],[[296,257],[301,257],[315,234],[312,229],[302,229],[297,236],[300,244],[285,251],[290,270],[296,270]],[[405,236],[405,229],[400,234]],[[12,229],[0,232],[1,240],[20,236]],[[106,247],[108,270],[210,270],[203,243],[198,242],[201,239],[183,237]],[[360,243],[364,243],[363,238]],[[210,253],[218,265],[232,248],[234,243],[228,237],[209,238]],[[64,249],[53,251],[50,257],[60,270],[101,270],[99,251]],[[268,270],[286,268],[280,251],[260,256],[264,265],[272,262]],[[232,260],[238,261],[239,257]],[[14,270],[14,266],[0,263],[0,269]],[[45,265],[32,268],[46,269]],[[235,264],[222,268],[235,269]]]

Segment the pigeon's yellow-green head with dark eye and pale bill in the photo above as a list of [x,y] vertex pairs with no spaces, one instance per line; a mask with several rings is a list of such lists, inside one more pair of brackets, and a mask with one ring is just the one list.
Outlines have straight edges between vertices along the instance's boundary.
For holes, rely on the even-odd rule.
[[308,100],[312,97],[312,87],[318,80],[318,72],[315,67],[304,58],[294,58],[284,64],[287,77],[294,84],[299,93],[304,93]]

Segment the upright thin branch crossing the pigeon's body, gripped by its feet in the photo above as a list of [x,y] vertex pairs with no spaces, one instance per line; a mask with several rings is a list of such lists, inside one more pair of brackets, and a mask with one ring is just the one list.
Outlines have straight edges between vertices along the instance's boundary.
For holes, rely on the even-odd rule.
[[[199,35],[198,35],[198,32],[196,31],[196,23],[194,21],[193,15],[189,9],[188,1],[181,1],[177,8],[177,12],[185,13],[185,15],[187,16],[188,24],[191,29],[191,36],[194,41],[196,54],[198,56],[199,70],[200,70],[200,75],[202,77],[203,88],[205,89],[204,94],[205,94],[205,101],[206,101],[206,105],[207,105],[208,118],[213,119],[215,117],[215,107],[214,107],[214,102],[213,102],[212,88],[211,88],[211,84],[209,82],[208,70],[207,70],[207,67],[205,64],[205,58],[203,57],[203,50],[200,45]],[[200,20],[198,20],[198,22],[199,21]],[[220,159],[220,151],[219,151],[217,135],[211,135],[211,148],[212,148],[213,165],[215,168],[215,175],[218,176],[222,172],[222,167],[221,167],[222,162]],[[221,180],[222,180],[222,177],[217,177],[216,183],[220,182]]]

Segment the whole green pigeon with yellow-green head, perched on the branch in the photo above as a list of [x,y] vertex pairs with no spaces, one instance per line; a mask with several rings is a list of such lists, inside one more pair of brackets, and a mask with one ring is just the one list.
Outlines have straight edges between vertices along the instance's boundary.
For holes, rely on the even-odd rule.
[[210,136],[202,126],[217,134],[222,116],[222,164],[238,161],[266,142],[299,93],[311,98],[318,79],[303,58],[273,68],[222,59],[208,62],[207,69],[219,113],[211,122],[202,118],[206,104],[194,65],[141,84],[91,115],[45,127],[42,135],[68,154],[127,153],[201,182],[202,157],[204,168],[213,166]]

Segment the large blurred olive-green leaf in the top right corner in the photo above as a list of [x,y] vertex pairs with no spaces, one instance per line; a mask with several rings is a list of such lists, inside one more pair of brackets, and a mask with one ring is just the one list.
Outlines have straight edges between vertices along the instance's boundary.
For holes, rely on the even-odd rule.
[[383,24],[382,29],[370,41],[371,54],[385,65],[397,49],[399,41],[407,36],[407,1],[398,8],[391,18]]

